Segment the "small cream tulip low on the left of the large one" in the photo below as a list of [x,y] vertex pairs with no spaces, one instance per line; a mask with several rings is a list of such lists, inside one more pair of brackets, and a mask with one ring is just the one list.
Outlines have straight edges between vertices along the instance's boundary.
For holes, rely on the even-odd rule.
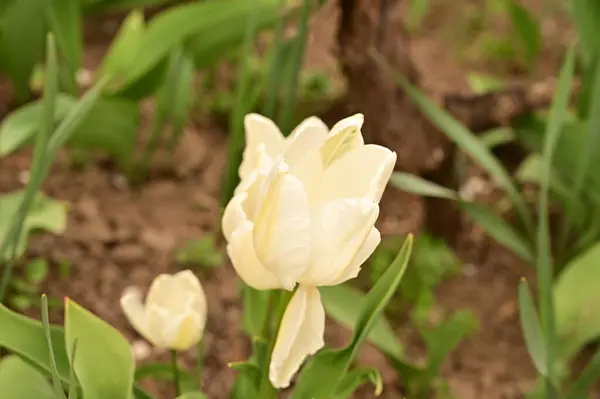
[[158,348],[186,350],[204,333],[206,295],[189,270],[156,277],[145,304],[139,289],[128,287],[121,297],[121,307],[133,328]]

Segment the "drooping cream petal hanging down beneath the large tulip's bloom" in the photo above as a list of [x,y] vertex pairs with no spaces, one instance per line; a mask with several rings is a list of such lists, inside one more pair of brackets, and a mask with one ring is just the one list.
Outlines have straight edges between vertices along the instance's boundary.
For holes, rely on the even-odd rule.
[[269,379],[275,388],[290,385],[306,357],[325,345],[324,333],[325,310],[319,290],[300,285],[283,314],[271,355]]

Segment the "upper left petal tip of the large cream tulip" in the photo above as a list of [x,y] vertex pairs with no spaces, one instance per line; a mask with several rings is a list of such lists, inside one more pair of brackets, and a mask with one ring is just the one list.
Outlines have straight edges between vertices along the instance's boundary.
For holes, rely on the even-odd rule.
[[248,114],[244,118],[246,131],[246,146],[242,163],[240,164],[240,178],[243,180],[261,165],[262,155],[257,151],[263,146],[264,151],[271,158],[278,158],[284,151],[286,140],[275,123],[259,114]]

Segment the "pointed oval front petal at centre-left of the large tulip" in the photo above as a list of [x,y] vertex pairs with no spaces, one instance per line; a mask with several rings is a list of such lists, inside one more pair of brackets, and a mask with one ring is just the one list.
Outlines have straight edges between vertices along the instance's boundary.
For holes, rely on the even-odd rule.
[[302,182],[280,162],[263,188],[254,223],[258,259],[287,290],[304,273],[310,253],[310,213]]

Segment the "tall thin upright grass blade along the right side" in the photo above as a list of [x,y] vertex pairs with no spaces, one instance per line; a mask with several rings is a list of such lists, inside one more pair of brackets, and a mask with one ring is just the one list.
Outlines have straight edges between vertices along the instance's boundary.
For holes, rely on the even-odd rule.
[[544,149],[542,153],[541,187],[539,194],[539,221],[537,229],[537,259],[536,273],[538,278],[538,297],[542,328],[546,338],[546,354],[548,372],[547,392],[550,392],[553,381],[554,348],[555,348],[555,322],[554,322],[554,296],[552,294],[553,266],[550,249],[550,228],[548,222],[548,187],[552,171],[552,157],[562,131],[562,125],[567,111],[571,82],[575,71],[575,53],[571,48],[567,53],[560,72],[557,90],[550,107],[548,124],[546,125]]

